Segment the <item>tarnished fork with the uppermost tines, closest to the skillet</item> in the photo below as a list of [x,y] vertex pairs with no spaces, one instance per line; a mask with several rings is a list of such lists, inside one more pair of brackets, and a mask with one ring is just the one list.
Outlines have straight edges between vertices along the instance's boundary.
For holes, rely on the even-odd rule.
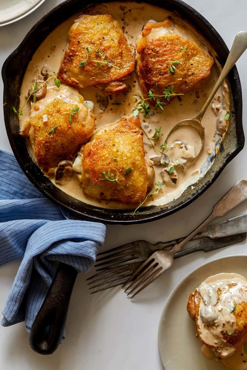
[[[247,215],[241,215],[229,220],[214,223],[208,226],[205,231],[197,233],[192,240],[209,237],[211,239],[223,236],[236,235],[247,231]],[[96,271],[109,269],[111,267],[129,265],[130,263],[144,262],[156,250],[171,247],[181,242],[183,238],[158,242],[151,244],[146,240],[136,240],[98,254],[96,259]],[[100,267],[100,268],[99,268]]]

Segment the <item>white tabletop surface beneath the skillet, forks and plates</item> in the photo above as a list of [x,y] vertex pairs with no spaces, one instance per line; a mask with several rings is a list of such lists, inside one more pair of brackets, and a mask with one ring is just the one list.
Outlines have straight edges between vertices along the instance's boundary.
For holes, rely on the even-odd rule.
[[[27,31],[61,1],[47,0],[33,14],[17,23],[0,28],[0,60],[23,40]],[[246,0],[187,0],[216,28],[231,46],[235,34],[246,30]],[[247,99],[247,52],[238,61],[243,101]],[[2,101],[2,81],[0,95]],[[244,104],[244,127],[247,110]],[[9,150],[0,108],[0,148]],[[246,147],[224,169],[216,182],[187,208],[156,222],[136,226],[109,226],[104,249],[113,248],[137,239],[150,242],[169,240],[186,235],[206,218],[214,203],[238,180],[247,178]],[[247,212],[247,202],[229,216]],[[5,370],[150,370],[162,369],[158,354],[157,330],[164,303],[173,287],[191,270],[214,258],[243,254],[246,243],[216,252],[198,252],[178,259],[173,267],[139,295],[136,301],[126,298],[120,288],[89,295],[85,276],[77,277],[67,319],[67,338],[50,356],[34,353],[28,344],[24,323],[8,328],[0,327],[0,368]],[[19,262],[0,268],[0,308],[7,299]],[[247,274],[246,274],[247,275]],[[186,309],[186,307],[181,307]],[[179,335],[179,333],[176,333]]]

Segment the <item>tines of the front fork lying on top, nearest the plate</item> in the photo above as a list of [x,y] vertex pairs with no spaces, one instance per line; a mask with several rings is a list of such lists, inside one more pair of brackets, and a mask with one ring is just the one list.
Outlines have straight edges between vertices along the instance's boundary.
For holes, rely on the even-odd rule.
[[163,267],[154,258],[149,257],[144,263],[142,263],[142,265],[136,271],[134,271],[134,273],[129,277],[127,282],[124,283],[123,289],[132,280],[132,282],[127,286],[124,292],[127,293],[127,291],[132,288],[127,293],[127,296],[134,293],[130,297],[133,298],[138,293],[140,293],[144,288],[146,288],[149,284],[151,284],[154,280],[156,280],[157,277],[162,275],[162,273]]

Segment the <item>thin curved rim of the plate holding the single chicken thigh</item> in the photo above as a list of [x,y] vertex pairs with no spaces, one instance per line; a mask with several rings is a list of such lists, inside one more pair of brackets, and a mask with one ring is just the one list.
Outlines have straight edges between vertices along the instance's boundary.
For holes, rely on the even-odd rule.
[[164,313],[167,310],[168,305],[170,304],[170,301],[173,298],[173,295],[175,294],[176,290],[180,287],[180,285],[182,285],[184,283],[184,281],[186,279],[188,279],[188,277],[190,277],[191,275],[193,275],[195,272],[197,272],[199,269],[203,268],[204,266],[210,265],[210,263],[216,262],[218,260],[224,260],[224,259],[236,258],[236,257],[246,257],[247,258],[247,254],[234,254],[234,255],[227,255],[227,256],[223,256],[223,257],[219,257],[219,258],[214,258],[213,260],[208,261],[206,263],[203,263],[202,265],[198,266],[196,269],[192,270],[179,283],[177,283],[176,286],[174,286],[173,290],[171,291],[171,293],[169,294],[169,296],[168,296],[168,298],[166,300],[166,303],[165,303],[165,305],[163,307],[163,310],[162,310],[161,315],[160,315],[160,320],[159,320],[159,323],[158,323],[158,352],[159,352],[160,361],[162,363],[162,366],[163,366],[163,369],[164,370],[167,370],[167,369],[164,366],[164,363],[163,363],[163,360],[162,360],[162,357],[161,357],[161,350],[160,350],[161,321],[163,319]]

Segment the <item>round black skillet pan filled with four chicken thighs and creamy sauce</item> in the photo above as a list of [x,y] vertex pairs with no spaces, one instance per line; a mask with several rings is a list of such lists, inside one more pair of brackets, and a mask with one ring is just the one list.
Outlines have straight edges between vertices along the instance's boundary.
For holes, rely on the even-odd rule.
[[[47,27],[55,13],[60,22]],[[200,111],[226,55],[217,32],[179,0],[60,4],[3,67],[6,128],[21,168],[77,216],[132,223],[175,212],[243,147],[235,67],[203,117],[202,150],[192,127],[166,141]]]

